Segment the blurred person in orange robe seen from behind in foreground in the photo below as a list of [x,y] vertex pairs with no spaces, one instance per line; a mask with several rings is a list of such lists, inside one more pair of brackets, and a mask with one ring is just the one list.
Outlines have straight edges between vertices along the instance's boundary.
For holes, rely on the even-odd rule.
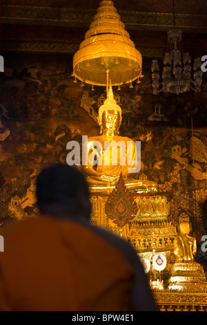
[[90,223],[90,194],[68,165],[37,177],[41,215],[1,231],[0,310],[155,310],[144,268],[124,239]]

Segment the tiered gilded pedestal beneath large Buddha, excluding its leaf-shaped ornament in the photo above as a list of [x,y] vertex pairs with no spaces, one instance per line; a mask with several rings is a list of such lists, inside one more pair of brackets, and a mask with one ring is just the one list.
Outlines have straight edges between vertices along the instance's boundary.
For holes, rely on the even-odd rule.
[[[155,252],[173,253],[177,230],[169,216],[166,196],[131,194],[136,204],[136,214],[124,223],[108,216],[107,194],[92,194],[92,222],[124,237],[142,257],[152,258]],[[121,201],[121,198],[120,198]],[[124,202],[122,202],[124,205]],[[119,208],[121,209],[121,202]],[[128,207],[122,207],[127,209]]]

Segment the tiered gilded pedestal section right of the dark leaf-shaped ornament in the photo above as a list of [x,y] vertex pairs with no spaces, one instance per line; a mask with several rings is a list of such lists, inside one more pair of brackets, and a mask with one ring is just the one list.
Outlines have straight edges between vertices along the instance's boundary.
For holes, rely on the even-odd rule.
[[130,221],[128,239],[142,257],[152,259],[155,252],[166,257],[174,249],[177,230],[169,215],[166,196],[134,196],[137,216]]

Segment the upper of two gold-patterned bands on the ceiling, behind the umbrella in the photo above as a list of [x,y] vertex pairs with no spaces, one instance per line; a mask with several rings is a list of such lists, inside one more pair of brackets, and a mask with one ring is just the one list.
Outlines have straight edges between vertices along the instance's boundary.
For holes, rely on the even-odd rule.
[[[2,5],[1,24],[89,26],[96,10]],[[160,12],[119,11],[127,30],[164,30],[173,26],[173,15]],[[176,14],[177,26],[193,32],[206,30],[205,15]]]

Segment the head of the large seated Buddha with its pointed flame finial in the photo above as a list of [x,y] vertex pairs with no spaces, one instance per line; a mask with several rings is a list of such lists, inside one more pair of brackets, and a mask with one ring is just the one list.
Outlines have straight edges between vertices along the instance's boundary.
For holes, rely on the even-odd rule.
[[112,87],[108,93],[108,97],[104,104],[99,107],[98,122],[100,125],[100,133],[119,134],[121,125],[121,107],[114,100]]

